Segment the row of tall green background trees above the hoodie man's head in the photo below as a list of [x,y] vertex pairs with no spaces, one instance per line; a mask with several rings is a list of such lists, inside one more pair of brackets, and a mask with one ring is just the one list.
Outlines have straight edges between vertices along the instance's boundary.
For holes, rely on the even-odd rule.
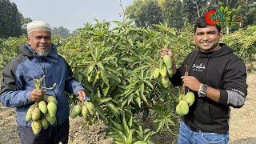
[[[208,10],[218,10],[220,6],[228,6],[232,15],[242,16],[244,26],[256,23],[256,2],[254,0],[135,0],[126,8],[126,15],[134,19],[140,27],[153,26],[159,22],[167,22],[169,26],[181,29],[186,22],[194,23],[195,18]],[[238,28],[225,27],[229,31]]]

